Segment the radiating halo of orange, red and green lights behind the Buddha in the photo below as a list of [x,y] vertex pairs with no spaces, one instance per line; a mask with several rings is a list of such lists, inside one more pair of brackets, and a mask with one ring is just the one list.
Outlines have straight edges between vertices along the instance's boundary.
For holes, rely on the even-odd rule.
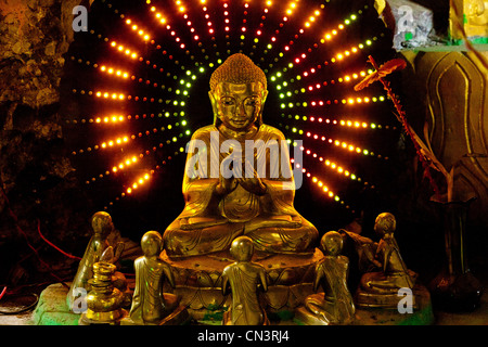
[[[339,20],[330,21],[328,15],[336,2],[333,0],[141,2],[141,11],[132,14],[128,2],[102,0],[116,14],[114,28],[124,34],[103,26],[103,35],[93,25],[90,34],[107,54],[101,51],[93,59],[79,52],[70,57],[80,68],[92,67],[91,72],[100,76],[97,85],[73,86],[72,94],[89,97],[88,102],[97,102],[102,108],[86,116],[74,113],[66,125],[79,127],[78,131],[97,129],[93,133],[99,138],[90,138],[91,144],[72,153],[75,157],[85,154],[104,158],[98,174],[86,179],[89,187],[102,178],[114,177],[121,182],[119,193],[106,206],[150,185],[154,175],[164,175],[162,167],[184,153],[184,143],[197,127],[192,117],[200,105],[193,104],[192,93],[236,52],[248,54],[267,73],[283,132],[288,138],[311,141],[304,149],[305,159],[322,165],[324,175],[364,182],[354,167],[346,168],[336,158],[319,155],[324,146],[360,157],[388,159],[334,130],[396,130],[368,115],[369,107],[384,104],[385,95],[347,90],[370,74],[364,56],[384,37],[371,30],[357,35],[362,18],[372,10],[368,5],[359,4]],[[323,93],[325,87],[328,94]],[[318,126],[329,127],[322,134]],[[309,170],[304,174],[325,196],[349,208],[350,204],[335,193],[341,185],[325,184]]]

